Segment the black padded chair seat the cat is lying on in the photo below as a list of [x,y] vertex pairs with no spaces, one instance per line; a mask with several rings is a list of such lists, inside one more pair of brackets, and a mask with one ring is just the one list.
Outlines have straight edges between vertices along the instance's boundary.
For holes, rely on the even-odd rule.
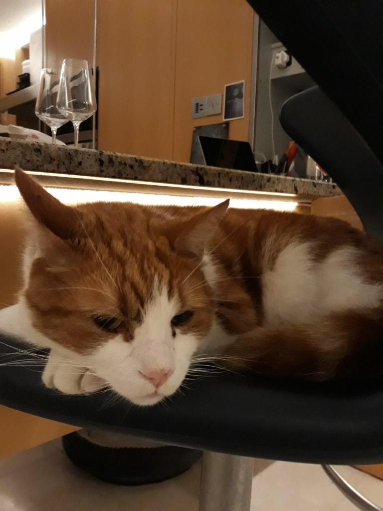
[[[0,335],[2,363],[25,347]],[[31,357],[32,359],[32,357]],[[158,442],[307,463],[383,461],[383,385],[304,383],[234,374],[206,377],[154,407],[109,393],[64,396],[41,383],[43,366],[3,366],[0,403],[66,424]]]

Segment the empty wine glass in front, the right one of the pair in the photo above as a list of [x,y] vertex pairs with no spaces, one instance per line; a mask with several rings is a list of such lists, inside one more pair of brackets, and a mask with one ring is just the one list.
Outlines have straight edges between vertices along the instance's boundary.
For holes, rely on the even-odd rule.
[[57,108],[73,123],[75,147],[78,147],[80,124],[97,110],[93,79],[86,60],[63,60]]

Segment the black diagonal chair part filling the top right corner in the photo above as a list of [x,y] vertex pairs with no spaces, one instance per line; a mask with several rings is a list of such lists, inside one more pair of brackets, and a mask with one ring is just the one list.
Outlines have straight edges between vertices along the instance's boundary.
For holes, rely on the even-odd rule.
[[383,164],[383,2],[248,3]]

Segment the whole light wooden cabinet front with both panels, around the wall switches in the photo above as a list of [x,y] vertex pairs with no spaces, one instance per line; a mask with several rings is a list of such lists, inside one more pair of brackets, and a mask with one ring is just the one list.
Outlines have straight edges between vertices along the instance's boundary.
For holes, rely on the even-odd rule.
[[[57,2],[57,0],[51,0]],[[246,80],[248,140],[253,11],[243,0],[99,0],[99,148],[189,161],[192,98]]]

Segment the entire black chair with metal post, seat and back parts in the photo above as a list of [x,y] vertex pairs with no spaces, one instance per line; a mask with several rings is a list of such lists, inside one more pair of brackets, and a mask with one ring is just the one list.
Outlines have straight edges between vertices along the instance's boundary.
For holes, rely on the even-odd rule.
[[[301,56],[306,70],[343,112],[314,88],[286,102],[282,125],[337,181],[367,232],[383,237],[383,137],[381,124],[375,129],[369,125],[369,120],[383,119],[383,95],[365,97],[368,91],[375,95],[381,91],[383,76],[367,52],[351,45],[350,53],[351,34],[344,29],[345,19],[351,15],[349,2],[342,0],[334,6],[331,0],[259,0],[250,4],[290,51]],[[377,1],[356,4],[356,11],[369,6],[374,9],[375,26],[383,19]],[[317,27],[318,19],[322,22],[319,39],[310,30],[310,24]],[[361,14],[358,19],[360,30],[365,17]],[[312,43],[306,44],[305,37],[299,40],[299,34],[316,39],[324,52],[329,51],[330,41],[337,42],[327,60],[330,69],[326,62],[310,61],[307,52],[302,53],[302,43],[306,48]],[[373,57],[379,54],[380,63],[381,34],[383,31],[376,34],[377,46],[372,52]],[[363,39],[360,34],[356,38]],[[367,42],[371,43],[370,33],[363,49]],[[340,59],[337,67],[334,52]],[[340,87],[334,78],[347,77],[352,66],[360,87],[354,99],[363,101],[356,106],[348,101],[349,91],[339,97]],[[365,81],[361,79],[362,68],[369,71]],[[12,353],[16,341],[4,336],[0,340],[9,344]],[[6,406],[75,426],[204,450],[200,511],[249,510],[251,457],[322,464],[383,461],[383,382],[344,385],[227,375],[196,382],[167,408],[133,407],[126,413],[125,403],[103,408],[104,399],[100,395],[59,396],[44,388],[39,373],[28,368],[2,367],[0,371],[0,403]],[[326,471],[360,509],[379,509],[353,492],[331,467]]]

